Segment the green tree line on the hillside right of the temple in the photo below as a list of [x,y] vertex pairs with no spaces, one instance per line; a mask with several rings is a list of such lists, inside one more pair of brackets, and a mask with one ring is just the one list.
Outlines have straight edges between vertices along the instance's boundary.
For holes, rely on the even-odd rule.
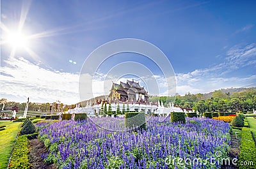
[[[164,105],[170,105],[172,102],[175,106],[181,108],[191,108],[198,112],[252,112],[256,109],[256,89],[248,88],[240,92],[222,92],[214,91],[211,97],[206,98],[205,94],[187,93],[184,96],[161,96],[152,97],[150,101],[156,102],[158,99],[163,101]],[[170,101],[166,103],[167,101]]]

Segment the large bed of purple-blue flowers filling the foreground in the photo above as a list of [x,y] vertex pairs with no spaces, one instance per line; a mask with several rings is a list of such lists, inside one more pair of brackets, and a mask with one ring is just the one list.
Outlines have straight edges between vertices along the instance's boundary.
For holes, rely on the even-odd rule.
[[[97,121],[109,122],[109,117]],[[189,119],[189,120],[188,120]],[[221,151],[227,158],[229,125],[212,119],[188,118],[186,124],[170,118],[153,117],[147,129],[115,132],[97,127],[92,121],[60,121],[42,126],[40,140],[49,148],[45,161],[58,168],[168,168],[165,159],[210,158]],[[178,168],[183,168],[175,163]],[[211,164],[191,164],[189,168],[211,168]],[[216,164],[213,168],[220,168]]]

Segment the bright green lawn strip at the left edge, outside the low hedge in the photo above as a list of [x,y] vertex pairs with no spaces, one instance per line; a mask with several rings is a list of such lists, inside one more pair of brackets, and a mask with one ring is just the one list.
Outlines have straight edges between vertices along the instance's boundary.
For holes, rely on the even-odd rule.
[[6,168],[12,147],[19,132],[21,122],[1,121],[0,126],[6,126],[0,131],[0,168]]

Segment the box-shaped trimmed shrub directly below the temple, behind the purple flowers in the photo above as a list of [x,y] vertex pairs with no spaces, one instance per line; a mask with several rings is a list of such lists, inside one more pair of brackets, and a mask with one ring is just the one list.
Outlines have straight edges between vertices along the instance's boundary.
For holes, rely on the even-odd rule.
[[146,129],[145,112],[126,112],[124,118],[125,128]]

